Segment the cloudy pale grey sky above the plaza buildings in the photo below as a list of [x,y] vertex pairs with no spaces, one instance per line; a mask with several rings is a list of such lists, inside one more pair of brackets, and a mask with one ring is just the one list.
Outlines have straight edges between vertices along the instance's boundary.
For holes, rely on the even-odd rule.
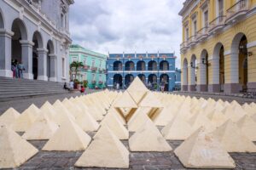
[[175,53],[180,68],[183,0],[75,0],[73,44],[102,53]]

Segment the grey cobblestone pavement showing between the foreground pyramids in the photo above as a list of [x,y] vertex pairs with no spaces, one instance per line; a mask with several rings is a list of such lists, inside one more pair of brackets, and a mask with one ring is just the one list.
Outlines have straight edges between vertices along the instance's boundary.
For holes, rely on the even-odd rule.
[[[92,137],[95,133],[89,133]],[[42,151],[46,140],[30,141],[40,150],[36,156],[26,161],[17,169],[106,169],[113,168],[79,168],[74,167],[74,163],[82,155],[83,151]],[[129,150],[128,140],[122,140],[125,147]],[[182,141],[168,141],[175,150]],[[256,144],[256,143],[255,143]],[[230,153],[230,156],[236,161],[236,170],[256,169],[256,153]],[[136,170],[162,170],[162,169],[186,169],[182,163],[171,152],[130,152],[130,168]]]

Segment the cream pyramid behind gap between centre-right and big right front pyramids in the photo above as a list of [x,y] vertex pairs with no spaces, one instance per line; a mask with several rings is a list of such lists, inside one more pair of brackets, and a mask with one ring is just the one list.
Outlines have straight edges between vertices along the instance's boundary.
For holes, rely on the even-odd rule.
[[184,121],[182,117],[175,116],[173,120],[161,130],[161,133],[165,139],[184,140],[194,133],[194,129],[188,122]]

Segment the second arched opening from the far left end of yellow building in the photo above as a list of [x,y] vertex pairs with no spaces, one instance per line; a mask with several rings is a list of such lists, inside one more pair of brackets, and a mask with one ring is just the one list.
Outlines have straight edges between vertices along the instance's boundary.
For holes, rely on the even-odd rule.
[[192,55],[190,60],[190,83],[189,83],[189,91],[196,90],[197,84],[197,74],[196,74],[196,56],[195,54]]

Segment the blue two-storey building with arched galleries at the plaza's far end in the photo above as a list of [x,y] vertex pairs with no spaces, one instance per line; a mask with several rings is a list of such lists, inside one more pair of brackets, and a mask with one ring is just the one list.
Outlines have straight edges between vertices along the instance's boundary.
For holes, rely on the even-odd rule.
[[[145,85],[151,84],[159,89],[163,80],[166,91],[172,91],[176,82],[180,82],[180,73],[175,67],[174,54],[109,54],[107,59],[108,88],[119,83],[120,88],[127,88],[135,77],[140,77]],[[177,81],[176,81],[177,80]]]

